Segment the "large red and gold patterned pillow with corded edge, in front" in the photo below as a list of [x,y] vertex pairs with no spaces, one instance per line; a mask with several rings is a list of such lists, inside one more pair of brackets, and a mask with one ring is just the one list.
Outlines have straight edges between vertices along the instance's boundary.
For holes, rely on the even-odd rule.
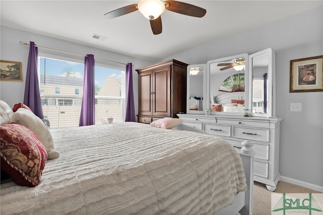
[[8,124],[0,128],[1,170],[18,185],[37,186],[47,160],[44,145],[23,125]]

